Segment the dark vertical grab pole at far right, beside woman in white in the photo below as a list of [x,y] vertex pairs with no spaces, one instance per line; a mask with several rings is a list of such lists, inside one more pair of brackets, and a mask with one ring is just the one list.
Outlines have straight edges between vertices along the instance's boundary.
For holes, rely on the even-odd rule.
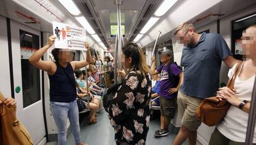
[[254,128],[256,119],[256,79],[254,80],[254,88],[252,89],[252,101],[250,102],[250,113],[248,118],[247,132],[245,144],[250,145],[254,140]]

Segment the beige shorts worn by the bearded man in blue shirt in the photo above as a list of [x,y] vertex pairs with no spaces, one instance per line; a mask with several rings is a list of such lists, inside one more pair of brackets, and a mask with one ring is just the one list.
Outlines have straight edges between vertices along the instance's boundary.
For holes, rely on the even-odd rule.
[[181,117],[181,125],[191,131],[196,131],[201,125],[195,111],[199,104],[203,101],[200,98],[194,98],[185,95],[180,90],[177,95],[178,115]]

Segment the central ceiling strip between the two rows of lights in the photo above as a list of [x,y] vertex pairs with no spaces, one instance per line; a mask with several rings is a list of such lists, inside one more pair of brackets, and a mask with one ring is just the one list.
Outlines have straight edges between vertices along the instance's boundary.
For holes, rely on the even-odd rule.
[[[121,25],[124,43],[134,39],[150,15],[163,0],[122,0]],[[87,17],[101,41],[110,49],[114,49],[117,26],[116,0],[78,0],[74,1]],[[136,29],[135,29],[136,28]]]

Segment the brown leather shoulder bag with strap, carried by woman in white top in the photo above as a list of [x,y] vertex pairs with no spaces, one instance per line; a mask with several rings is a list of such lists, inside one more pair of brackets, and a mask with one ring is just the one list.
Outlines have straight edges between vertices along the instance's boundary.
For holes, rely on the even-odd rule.
[[[234,88],[234,81],[241,69],[241,62],[237,63],[234,75],[228,82],[227,87],[231,90]],[[231,104],[226,100],[220,100],[216,96],[206,98],[199,104],[197,111],[197,117],[209,127],[217,125],[228,112]]]

